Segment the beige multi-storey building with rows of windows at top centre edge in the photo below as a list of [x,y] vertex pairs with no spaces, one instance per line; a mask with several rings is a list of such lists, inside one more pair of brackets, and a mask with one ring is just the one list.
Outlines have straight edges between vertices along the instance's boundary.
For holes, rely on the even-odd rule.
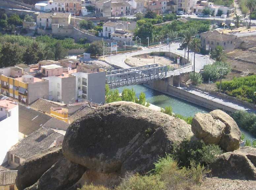
[[131,5],[128,2],[111,2],[111,16],[129,15]]

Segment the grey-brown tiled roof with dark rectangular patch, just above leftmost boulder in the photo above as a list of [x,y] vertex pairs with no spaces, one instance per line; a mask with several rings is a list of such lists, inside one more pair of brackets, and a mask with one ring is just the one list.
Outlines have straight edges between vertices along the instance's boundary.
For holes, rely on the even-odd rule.
[[20,158],[28,159],[52,147],[53,143],[62,136],[52,129],[41,127],[12,146],[9,152]]

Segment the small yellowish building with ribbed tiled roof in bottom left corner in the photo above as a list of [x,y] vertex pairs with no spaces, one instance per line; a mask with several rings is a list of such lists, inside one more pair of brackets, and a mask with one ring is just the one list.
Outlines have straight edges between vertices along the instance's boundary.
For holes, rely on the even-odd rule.
[[16,187],[16,176],[18,171],[0,172],[0,190],[18,190]]

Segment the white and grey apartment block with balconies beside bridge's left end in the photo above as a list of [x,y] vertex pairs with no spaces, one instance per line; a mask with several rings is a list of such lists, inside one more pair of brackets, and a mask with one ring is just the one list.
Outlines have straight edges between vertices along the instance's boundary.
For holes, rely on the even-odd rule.
[[76,98],[78,102],[88,100],[97,104],[105,103],[106,71],[78,72],[72,75],[76,76]]

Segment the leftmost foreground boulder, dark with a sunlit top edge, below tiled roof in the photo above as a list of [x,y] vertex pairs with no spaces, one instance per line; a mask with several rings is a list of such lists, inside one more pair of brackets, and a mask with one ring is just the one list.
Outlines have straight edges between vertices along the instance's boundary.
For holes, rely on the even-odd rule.
[[19,168],[16,186],[19,190],[33,185],[53,164],[63,157],[61,146],[43,151],[25,162]]

